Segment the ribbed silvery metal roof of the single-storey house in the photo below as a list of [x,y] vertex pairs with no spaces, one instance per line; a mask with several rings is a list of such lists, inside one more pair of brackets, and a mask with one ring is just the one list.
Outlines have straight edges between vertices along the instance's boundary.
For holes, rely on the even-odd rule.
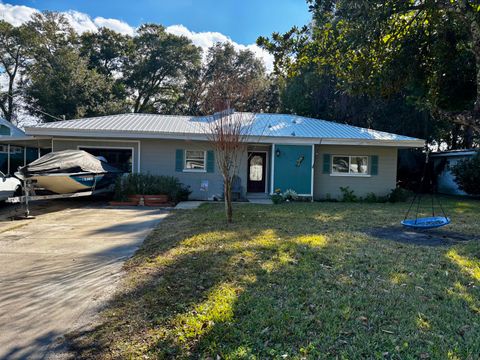
[[[352,139],[352,140],[377,140],[390,142],[410,142],[413,146],[422,146],[423,140],[408,136],[396,135],[351,125],[335,123],[326,120],[312,119],[297,115],[287,114],[253,114],[235,112],[248,124],[250,136],[264,138],[284,139]],[[120,114],[84,118],[77,120],[57,121],[40,124],[26,128],[28,135],[56,135],[56,134],[97,134],[117,133],[173,135],[170,138],[185,138],[189,135],[205,135],[205,126],[212,117],[175,116],[160,114]],[[151,137],[151,136],[149,136]]]

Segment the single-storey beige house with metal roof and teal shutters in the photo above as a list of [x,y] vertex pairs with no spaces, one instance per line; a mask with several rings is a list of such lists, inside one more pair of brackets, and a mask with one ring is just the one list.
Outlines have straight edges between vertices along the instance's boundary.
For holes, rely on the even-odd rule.
[[[396,186],[397,150],[424,141],[296,115],[234,113],[252,121],[239,178],[244,195],[276,189],[322,199],[349,186],[359,196]],[[176,176],[192,199],[223,193],[205,117],[123,114],[27,127],[53,151],[84,149],[131,172]],[[49,145],[50,144],[50,145]]]

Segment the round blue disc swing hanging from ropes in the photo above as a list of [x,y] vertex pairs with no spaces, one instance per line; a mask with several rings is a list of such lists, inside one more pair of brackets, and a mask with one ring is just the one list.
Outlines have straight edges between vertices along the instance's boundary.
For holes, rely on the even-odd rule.
[[[420,210],[420,203],[422,201],[423,197],[423,185],[426,179],[427,175],[427,168],[428,168],[428,162],[429,162],[429,150],[428,146],[426,146],[426,155],[425,155],[425,167],[423,168],[423,174],[422,178],[420,180],[420,189],[418,193],[415,193],[415,196],[413,197],[412,202],[410,203],[410,206],[408,208],[407,213],[405,214],[405,218],[400,222],[403,226],[408,227],[408,228],[413,228],[413,229],[434,229],[434,228],[439,228],[445,225],[450,224],[450,218],[447,217],[445,214],[445,210],[443,209],[443,206],[438,198],[436,198],[435,193],[434,193],[434,188],[433,188],[433,183],[432,183],[432,176],[430,176],[430,196],[431,196],[431,207],[432,207],[432,216],[428,217],[418,217],[419,210]],[[438,216],[435,215],[435,199],[437,200],[437,203],[440,207],[440,210],[442,212],[443,216]],[[414,207],[414,204],[416,204],[416,211],[415,211],[415,217],[410,217],[410,211]]]

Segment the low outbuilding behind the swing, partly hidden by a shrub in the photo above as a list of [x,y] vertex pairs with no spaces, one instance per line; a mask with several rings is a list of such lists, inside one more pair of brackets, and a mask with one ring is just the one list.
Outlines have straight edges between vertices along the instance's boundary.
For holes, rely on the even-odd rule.
[[450,150],[431,154],[435,174],[437,174],[437,191],[441,194],[467,195],[460,190],[451,169],[459,161],[470,159],[475,150]]

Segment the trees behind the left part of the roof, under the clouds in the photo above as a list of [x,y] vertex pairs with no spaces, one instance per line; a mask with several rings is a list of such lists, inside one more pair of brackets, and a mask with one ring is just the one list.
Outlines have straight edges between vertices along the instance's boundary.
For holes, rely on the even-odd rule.
[[106,28],[79,35],[64,15],[36,13],[20,27],[0,22],[0,44],[0,76],[8,83],[0,89],[0,115],[9,121],[20,107],[57,121],[122,112],[203,115],[225,96],[238,110],[278,104],[268,91],[275,82],[251,51],[215,44],[202,54],[158,24],[133,36]]

